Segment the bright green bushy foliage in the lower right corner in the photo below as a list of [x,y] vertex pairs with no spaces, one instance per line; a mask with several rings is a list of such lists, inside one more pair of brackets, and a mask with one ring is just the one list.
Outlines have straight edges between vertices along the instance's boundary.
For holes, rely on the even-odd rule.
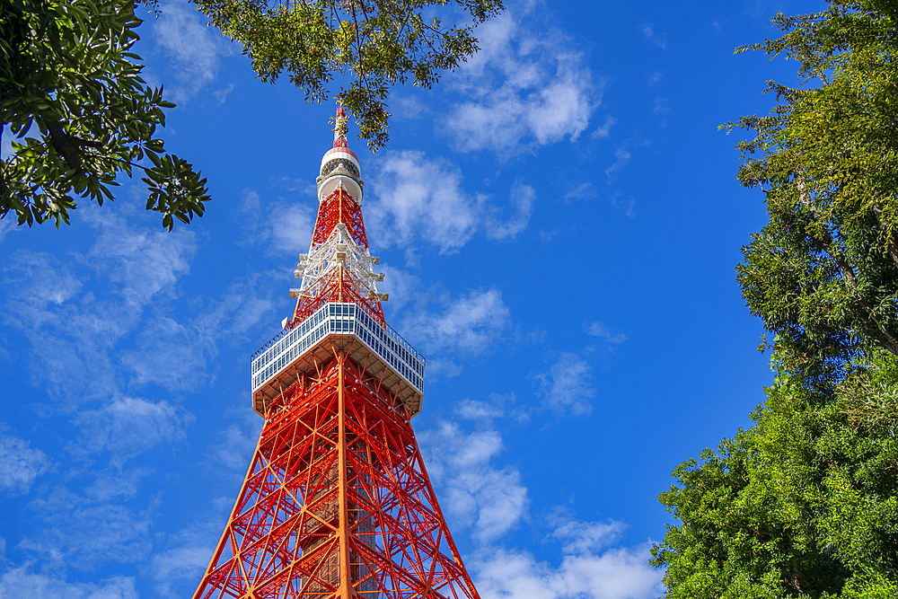
[[669,599],[886,597],[898,590],[898,365],[882,352],[832,395],[787,373],[756,426],[683,462],[653,563]]

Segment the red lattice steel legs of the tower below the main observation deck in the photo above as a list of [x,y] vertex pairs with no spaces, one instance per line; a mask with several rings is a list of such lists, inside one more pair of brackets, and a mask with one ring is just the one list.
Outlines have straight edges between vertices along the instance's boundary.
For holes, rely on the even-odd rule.
[[334,352],[272,402],[195,599],[479,599],[401,401]]

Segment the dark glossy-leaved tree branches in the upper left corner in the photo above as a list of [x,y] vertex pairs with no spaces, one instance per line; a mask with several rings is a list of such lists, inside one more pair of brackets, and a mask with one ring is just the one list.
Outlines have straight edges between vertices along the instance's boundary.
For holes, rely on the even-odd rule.
[[164,227],[203,215],[206,180],[155,136],[174,105],[140,78],[134,11],[131,0],[0,0],[0,124],[31,131],[2,163],[0,217],[68,224],[79,198],[102,205],[134,168]]

